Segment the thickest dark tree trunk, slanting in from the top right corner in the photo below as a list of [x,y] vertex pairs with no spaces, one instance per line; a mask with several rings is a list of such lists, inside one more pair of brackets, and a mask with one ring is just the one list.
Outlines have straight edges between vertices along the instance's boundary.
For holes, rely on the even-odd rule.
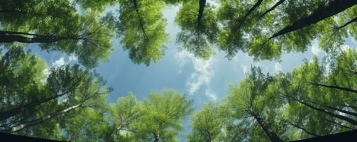
[[282,30],[278,31],[278,33],[275,33],[269,39],[310,26],[314,23],[324,20],[325,18],[334,16],[355,4],[357,4],[357,0],[329,0],[312,11],[312,13],[310,13],[308,16],[297,19],[297,21],[294,23],[286,26],[285,28],[282,28]]

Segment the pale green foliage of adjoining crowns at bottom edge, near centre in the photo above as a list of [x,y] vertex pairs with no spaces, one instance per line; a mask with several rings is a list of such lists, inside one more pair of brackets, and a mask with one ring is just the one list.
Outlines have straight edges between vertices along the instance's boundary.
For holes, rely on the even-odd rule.
[[181,120],[192,111],[192,101],[172,89],[151,92],[150,99],[136,100],[130,92],[111,104],[114,126],[107,139],[116,141],[178,141]]

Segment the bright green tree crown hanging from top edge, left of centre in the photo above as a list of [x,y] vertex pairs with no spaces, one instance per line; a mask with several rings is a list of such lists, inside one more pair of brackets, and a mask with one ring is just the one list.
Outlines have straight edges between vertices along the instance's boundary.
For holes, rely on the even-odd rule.
[[129,57],[135,63],[157,62],[163,57],[168,35],[160,10],[163,3],[154,1],[119,1],[119,36]]

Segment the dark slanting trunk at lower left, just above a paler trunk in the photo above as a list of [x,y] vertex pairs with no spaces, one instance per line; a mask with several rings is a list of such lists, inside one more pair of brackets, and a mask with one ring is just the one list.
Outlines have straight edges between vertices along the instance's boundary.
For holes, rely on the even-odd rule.
[[23,111],[26,111],[27,109],[31,109],[33,107],[36,107],[40,104],[43,104],[45,102],[49,102],[50,100],[53,100],[53,99],[57,99],[58,97],[61,97],[63,95],[65,95],[66,93],[63,93],[63,94],[57,94],[53,97],[48,97],[48,98],[45,98],[45,99],[42,99],[42,100],[39,100],[39,101],[34,101],[34,102],[30,102],[28,104],[25,104],[21,107],[17,107],[15,109],[11,109],[11,110],[8,110],[8,111],[4,111],[4,112],[1,112],[0,113],[0,121],[4,120],[4,119],[7,119],[11,116],[14,116],[16,114],[20,114],[21,112]]

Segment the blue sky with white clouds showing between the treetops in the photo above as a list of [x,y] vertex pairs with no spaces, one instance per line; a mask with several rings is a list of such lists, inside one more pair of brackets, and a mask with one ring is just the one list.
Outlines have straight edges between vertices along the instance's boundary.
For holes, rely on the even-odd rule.
[[[128,53],[121,48],[119,39],[114,40],[114,53],[109,56],[109,60],[99,63],[95,68],[107,81],[107,85],[114,88],[108,102],[115,102],[127,92],[133,92],[138,99],[142,99],[148,97],[150,91],[170,88],[188,94],[190,99],[194,100],[194,107],[199,108],[206,102],[219,102],[224,98],[229,84],[237,84],[251,65],[260,66],[263,72],[290,72],[301,65],[304,59],[312,59],[313,55],[325,55],[314,41],[304,53],[282,55],[281,62],[253,62],[253,58],[246,53],[238,53],[232,60],[228,60],[220,51],[216,51],[216,55],[209,60],[200,60],[194,58],[191,53],[180,50],[176,44],[176,34],[180,30],[174,22],[177,10],[177,6],[168,6],[163,11],[167,19],[166,31],[170,35],[170,42],[166,43],[165,56],[149,67],[133,64]],[[356,48],[357,43],[349,38],[346,45]],[[44,58],[48,67],[77,62],[74,55],[46,53],[40,51],[36,44],[29,45],[28,49]],[[184,121],[186,131],[187,122],[188,118]]]

